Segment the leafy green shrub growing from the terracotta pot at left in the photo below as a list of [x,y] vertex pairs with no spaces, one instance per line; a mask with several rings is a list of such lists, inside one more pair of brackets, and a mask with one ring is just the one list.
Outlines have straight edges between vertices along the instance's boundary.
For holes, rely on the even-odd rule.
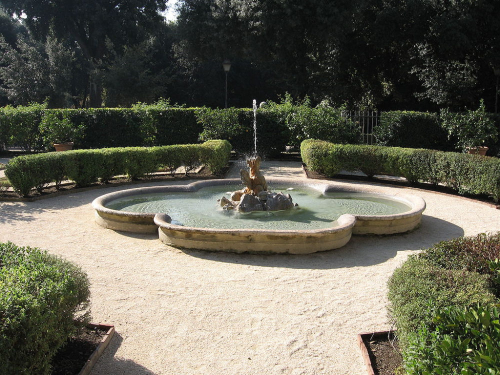
[[54,143],[77,142],[84,132],[84,125],[75,126],[67,112],[57,115],[56,112],[45,112],[39,125],[39,131],[46,149],[51,149]]

